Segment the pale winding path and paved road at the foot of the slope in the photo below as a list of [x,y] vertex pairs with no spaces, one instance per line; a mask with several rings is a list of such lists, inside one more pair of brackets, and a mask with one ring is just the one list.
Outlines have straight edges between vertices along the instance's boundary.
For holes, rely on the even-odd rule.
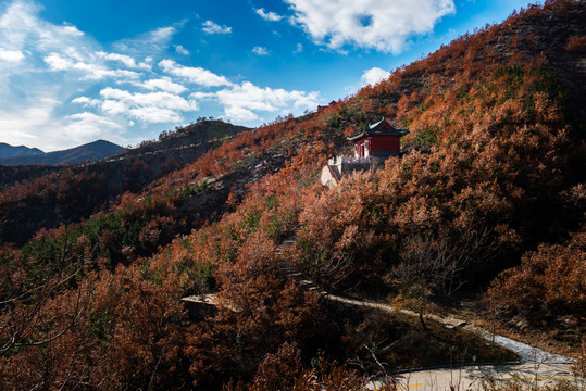
[[[287,262],[285,250],[297,241],[298,232],[299,230],[287,238],[277,250],[280,269],[301,288],[314,291],[325,300],[333,302],[419,317],[419,314],[414,311],[398,308],[386,303],[345,298],[320,289],[313,281],[307,279],[294,265]],[[194,295],[182,300],[213,306],[221,305],[215,301],[214,294]],[[433,314],[424,315],[424,318],[437,321],[446,328],[458,327],[475,332],[488,341],[494,341],[511,350],[520,360],[519,362],[503,364],[478,363],[464,364],[457,367],[409,369],[389,376],[373,378],[366,382],[366,390],[378,390],[389,383],[396,384],[396,389],[401,391],[486,390],[482,387],[484,382],[491,382],[499,386],[512,381],[522,382],[532,388],[536,386],[549,386],[556,381],[570,381],[577,384],[579,390],[586,390],[584,379],[576,378],[570,371],[570,364],[573,363],[571,357],[552,354],[507,337],[493,335],[486,329],[470,324],[464,319],[441,317]]]

